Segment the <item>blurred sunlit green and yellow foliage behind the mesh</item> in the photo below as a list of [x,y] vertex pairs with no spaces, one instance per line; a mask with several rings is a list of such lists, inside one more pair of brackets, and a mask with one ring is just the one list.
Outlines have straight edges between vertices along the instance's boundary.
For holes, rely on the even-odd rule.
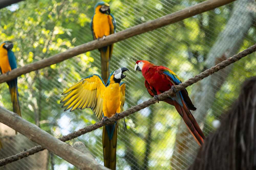
[[[117,21],[117,31],[156,19],[171,12],[186,8],[196,1],[169,0],[113,0],[111,13]],[[0,40],[14,42],[13,51],[18,67],[50,57],[66,49],[92,40],[90,20],[97,1],[30,0],[0,10]],[[128,67],[125,109],[134,106],[150,95],[144,88],[144,79],[133,72],[135,61],[149,60],[175,71],[184,81],[204,69],[204,61],[217,35],[224,29],[232,5],[217,8],[137,35],[114,45],[111,70]],[[244,39],[241,49],[255,42],[255,26]],[[239,51],[240,49],[238,49]],[[99,51],[93,50],[50,67],[34,71],[18,78],[18,92],[24,119],[40,124],[40,127],[55,137],[78,130],[97,121],[90,109],[63,112],[59,103],[61,93],[88,75],[100,74]],[[232,101],[238,96],[240,84],[255,75],[255,54],[234,64],[221,90],[212,96],[214,104],[207,116],[204,132],[212,132],[212,121],[220,119]],[[193,99],[193,89],[187,88]],[[12,110],[6,83],[0,84],[0,104]],[[197,107],[200,103],[193,101]],[[180,116],[175,108],[160,102],[143,109],[126,119],[128,130],[119,135],[117,167],[119,169],[170,169],[175,134]],[[85,143],[96,161],[103,164],[102,128],[79,140]],[[151,133],[149,133],[151,131]],[[149,151],[146,153],[146,150]],[[145,155],[148,154],[147,162]],[[76,169],[66,161],[54,156],[56,169]],[[148,164],[148,165],[147,165]]]

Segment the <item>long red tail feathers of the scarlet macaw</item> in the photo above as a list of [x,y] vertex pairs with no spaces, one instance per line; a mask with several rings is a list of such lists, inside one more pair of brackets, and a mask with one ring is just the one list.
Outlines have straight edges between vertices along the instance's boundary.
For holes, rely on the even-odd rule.
[[182,101],[183,107],[179,105],[178,102],[171,100],[171,99],[165,99],[165,102],[175,106],[176,110],[186,123],[190,133],[194,136],[195,140],[197,141],[198,145],[201,146],[204,143],[204,133],[202,132],[201,128],[197,124],[194,116],[188,109],[187,105]]

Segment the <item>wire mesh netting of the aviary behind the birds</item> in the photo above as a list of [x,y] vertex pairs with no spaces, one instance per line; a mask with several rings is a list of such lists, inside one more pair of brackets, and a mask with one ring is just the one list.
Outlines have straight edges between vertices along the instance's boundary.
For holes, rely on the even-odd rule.
[[[90,21],[98,1],[29,0],[0,10],[0,39],[12,40],[18,67],[50,57],[92,40]],[[150,21],[202,1],[128,0],[106,1],[116,19],[116,31]],[[137,60],[163,65],[185,81],[253,45],[256,40],[256,6],[239,0],[114,45],[110,70],[127,67],[125,109],[150,98],[144,78],[132,71]],[[239,94],[240,83],[255,76],[255,53],[223,71],[187,88],[197,107],[193,112],[205,135]],[[22,117],[55,137],[97,122],[90,109],[63,112],[61,93],[91,74],[100,74],[98,50],[81,54],[18,78]],[[12,110],[6,83],[0,84],[0,104]],[[198,146],[175,107],[159,102],[126,117],[126,134],[119,134],[117,169],[186,169]],[[82,141],[95,160],[103,164],[102,128],[68,141]],[[4,149],[0,158],[30,149],[35,143],[1,125]],[[77,169],[44,151],[15,163],[9,169]]]

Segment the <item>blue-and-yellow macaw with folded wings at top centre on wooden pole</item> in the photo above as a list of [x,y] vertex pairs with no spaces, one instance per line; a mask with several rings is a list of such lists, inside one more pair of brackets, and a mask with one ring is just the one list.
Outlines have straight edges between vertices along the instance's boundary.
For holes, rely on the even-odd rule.
[[[99,2],[94,7],[94,15],[91,21],[93,39],[105,38],[105,36],[115,33],[115,18],[110,14],[109,4]],[[114,44],[99,48],[101,57],[101,76],[105,83],[109,77],[109,61],[112,56]]]

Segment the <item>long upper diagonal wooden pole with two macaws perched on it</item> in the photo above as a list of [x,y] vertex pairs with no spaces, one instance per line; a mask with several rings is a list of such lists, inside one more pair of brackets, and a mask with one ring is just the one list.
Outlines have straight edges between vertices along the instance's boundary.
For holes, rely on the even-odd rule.
[[125,40],[129,37],[142,34],[148,31],[152,31],[157,28],[163,27],[165,25],[169,25],[169,24],[181,21],[183,19],[192,17],[194,15],[201,14],[202,12],[220,7],[222,5],[226,5],[233,1],[235,0],[207,0],[199,4],[193,5],[191,7],[185,8],[183,10],[179,10],[172,14],[163,16],[161,18],[136,25],[134,27],[128,28],[126,30],[120,31],[115,34],[111,34],[109,36],[106,36],[104,41],[102,40],[102,38],[100,39],[100,41],[98,40],[90,41],[88,43],[68,49],[63,53],[59,53],[54,56],[48,57],[46,59],[33,62],[31,64],[28,64],[24,67],[20,67],[18,69],[13,69],[12,71],[8,72],[8,75],[7,73],[2,74],[0,75],[0,83],[10,81],[22,74],[26,74],[31,71],[48,67],[52,64],[59,63],[61,61],[67,60],[69,58],[85,53],[87,51],[98,49],[98,48]]

